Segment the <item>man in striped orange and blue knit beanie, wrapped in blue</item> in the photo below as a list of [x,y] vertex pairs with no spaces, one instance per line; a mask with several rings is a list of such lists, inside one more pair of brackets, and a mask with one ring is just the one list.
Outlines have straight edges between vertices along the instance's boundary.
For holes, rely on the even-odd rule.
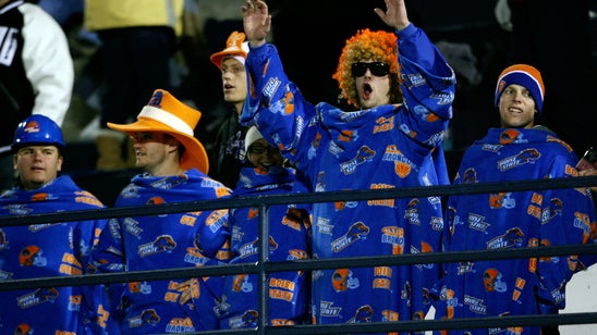
[[[454,184],[576,176],[572,148],[535,124],[544,97],[537,69],[507,67],[496,86],[500,127],[490,128],[464,152]],[[586,188],[452,196],[446,221],[447,251],[595,241],[595,209]],[[434,289],[436,319],[558,313],[564,307],[565,284],[592,262],[557,256],[446,264],[446,276]],[[557,332],[543,328],[543,334]],[[487,330],[467,331],[487,334]],[[507,330],[492,330],[501,332]],[[540,332],[539,326],[516,328],[516,334]]]

